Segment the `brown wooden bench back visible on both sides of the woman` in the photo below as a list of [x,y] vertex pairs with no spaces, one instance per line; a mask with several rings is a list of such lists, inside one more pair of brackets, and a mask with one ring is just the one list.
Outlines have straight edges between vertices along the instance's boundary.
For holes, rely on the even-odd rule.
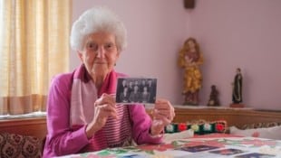
[[[150,114],[150,109],[147,109]],[[242,126],[254,123],[281,123],[281,111],[260,111],[250,108],[230,107],[186,107],[175,106],[175,123],[204,119],[206,121],[226,120],[228,126]],[[0,120],[0,133],[9,132],[19,135],[33,135],[43,139],[47,134],[45,116],[24,117]]]

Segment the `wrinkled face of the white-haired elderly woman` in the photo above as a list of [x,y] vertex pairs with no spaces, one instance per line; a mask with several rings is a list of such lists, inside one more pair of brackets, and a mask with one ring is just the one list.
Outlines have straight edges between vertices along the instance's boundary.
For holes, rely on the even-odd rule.
[[89,35],[84,42],[79,57],[92,76],[105,77],[114,67],[120,52],[117,49],[115,36],[111,33],[99,32]]

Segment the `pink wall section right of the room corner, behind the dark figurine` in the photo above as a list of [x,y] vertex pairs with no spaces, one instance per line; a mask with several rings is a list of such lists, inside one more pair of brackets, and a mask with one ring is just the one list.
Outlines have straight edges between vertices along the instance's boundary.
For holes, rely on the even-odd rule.
[[279,0],[197,1],[189,18],[205,55],[201,96],[208,96],[215,84],[221,103],[228,105],[240,67],[247,107],[281,109],[280,6]]

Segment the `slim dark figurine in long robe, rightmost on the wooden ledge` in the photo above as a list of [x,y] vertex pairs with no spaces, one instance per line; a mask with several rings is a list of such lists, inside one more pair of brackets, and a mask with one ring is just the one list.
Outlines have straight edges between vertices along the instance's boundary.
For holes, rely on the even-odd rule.
[[241,69],[237,68],[237,74],[235,75],[234,82],[232,83],[232,104],[230,107],[244,107],[242,105],[242,81],[243,77]]

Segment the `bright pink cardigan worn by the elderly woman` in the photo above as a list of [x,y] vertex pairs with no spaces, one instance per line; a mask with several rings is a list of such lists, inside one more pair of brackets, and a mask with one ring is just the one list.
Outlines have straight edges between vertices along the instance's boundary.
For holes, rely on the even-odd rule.
[[[112,70],[105,79],[104,85],[102,85],[102,89],[98,92],[98,95],[100,96],[102,93],[115,93],[117,78],[121,76],[124,75]],[[81,79],[82,82],[88,82],[90,80],[83,65],[77,70],[74,70],[73,73],[61,74],[52,80],[47,100],[48,134],[44,144],[44,157],[98,151],[111,147],[110,144],[107,144],[107,135],[105,135],[106,131],[108,131],[107,129],[111,128],[109,125],[105,125],[102,130],[98,131],[89,140],[85,134],[86,125],[75,125],[75,127],[71,125],[70,109],[74,79]],[[123,134],[123,128],[128,128],[131,138],[137,144],[160,144],[161,137],[151,137],[149,134],[151,119],[146,114],[144,106],[129,105],[126,108],[129,109],[129,113],[127,112],[129,116],[122,117],[122,121],[118,124],[122,124],[123,120],[125,120],[124,122],[130,122],[131,126],[113,129],[115,130],[114,132],[125,135]],[[126,114],[123,111],[125,110],[121,111],[121,115]],[[125,131],[127,135],[128,130]]]

